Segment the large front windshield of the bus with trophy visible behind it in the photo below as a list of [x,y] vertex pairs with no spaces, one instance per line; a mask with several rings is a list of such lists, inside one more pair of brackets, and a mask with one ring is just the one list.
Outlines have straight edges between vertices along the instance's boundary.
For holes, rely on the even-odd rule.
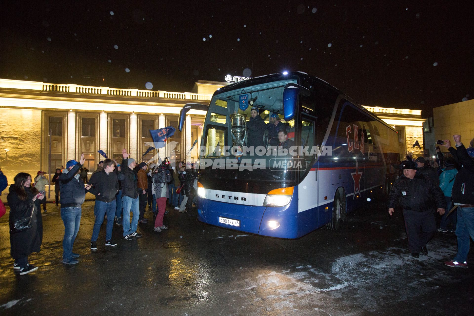
[[[221,179],[294,181],[295,122],[284,121],[283,90],[295,79],[216,93],[204,122],[200,174]],[[300,167],[301,168],[301,167]]]

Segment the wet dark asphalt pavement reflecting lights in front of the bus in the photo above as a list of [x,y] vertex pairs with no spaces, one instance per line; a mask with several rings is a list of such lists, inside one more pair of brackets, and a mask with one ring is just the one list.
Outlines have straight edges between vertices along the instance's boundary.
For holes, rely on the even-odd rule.
[[[401,211],[382,202],[356,210],[340,231],[320,228],[297,240],[209,226],[196,212],[168,207],[162,233],[139,224],[142,238],[105,247],[105,222],[91,251],[93,202],[82,208],[74,244],[79,264],[64,265],[59,208],[43,215],[33,273],[13,272],[8,207],[0,219],[0,315],[473,315],[474,255],[469,269],[443,261],[456,236],[437,233],[428,256],[412,258]],[[152,214],[146,212],[146,217]],[[468,260],[469,263],[469,260]]]

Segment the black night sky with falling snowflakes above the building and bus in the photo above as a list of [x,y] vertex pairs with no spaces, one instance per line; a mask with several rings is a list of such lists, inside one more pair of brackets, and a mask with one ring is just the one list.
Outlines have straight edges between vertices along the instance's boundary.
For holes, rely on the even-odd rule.
[[0,9],[1,78],[191,91],[228,73],[286,70],[369,106],[430,109],[474,96],[473,1],[2,1]]

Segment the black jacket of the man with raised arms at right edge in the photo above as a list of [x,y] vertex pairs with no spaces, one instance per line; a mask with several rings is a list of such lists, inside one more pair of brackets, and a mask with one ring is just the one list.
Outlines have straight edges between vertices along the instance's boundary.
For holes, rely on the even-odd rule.
[[456,174],[451,198],[454,203],[474,205],[474,160],[469,157],[463,144],[457,147],[457,150],[453,147],[448,150],[459,165],[463,165]]

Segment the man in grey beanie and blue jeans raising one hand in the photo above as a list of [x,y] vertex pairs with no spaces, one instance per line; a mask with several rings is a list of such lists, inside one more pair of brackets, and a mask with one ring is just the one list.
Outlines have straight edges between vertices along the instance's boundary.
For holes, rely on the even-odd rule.
[[[123,160],[121,163],[121,172],[118,180],[122,182],[122,205],[123,205],[123,236],[126,240],[133,240],[133,237],[141,237],[137,233],[138,217],[140,216],[140,207],[138,195],[138,176],[134,168],[137,166],[135,159],[129,158],[130,153],[124,148],[122,150]],[[143,191],[143,190],[142,190]],[[133,213],[132,224],[130,226],[130,211]]]

